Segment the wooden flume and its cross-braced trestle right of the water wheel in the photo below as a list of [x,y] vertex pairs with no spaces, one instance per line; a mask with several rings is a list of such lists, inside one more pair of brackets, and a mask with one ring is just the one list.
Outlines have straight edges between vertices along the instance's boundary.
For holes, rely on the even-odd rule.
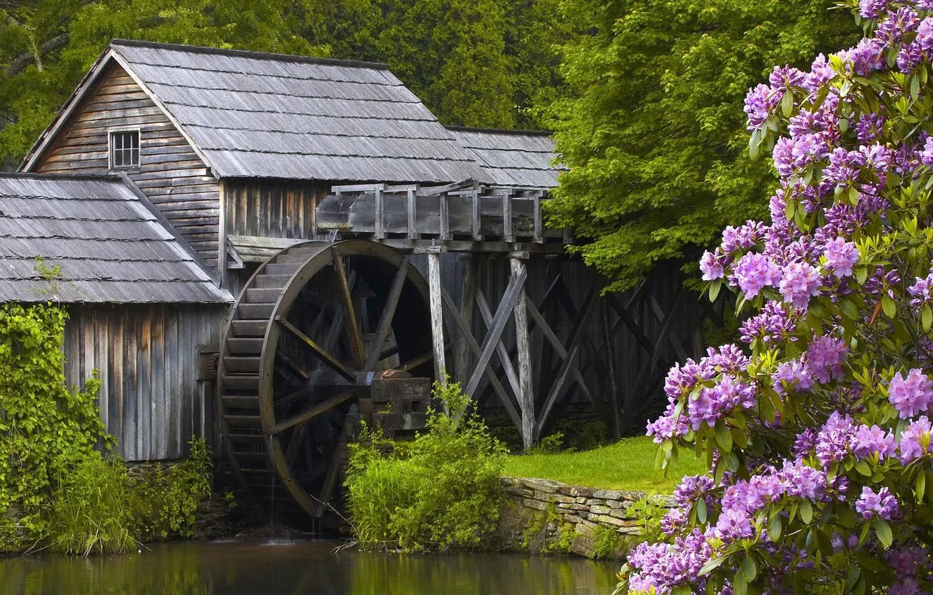
[[[673,361],[698,356],[702,321],[721,305],[683,290],[674,267],[634,291],[606,293],[568,229],[544,225],[547,191],[388,184],[333,187],[319,233],[411,256],[429,287],[435,377],[508,411],[527,449],[560,406],[588,402],[614,436],[640,430]],[[655,401],[657,406],[657,401]]]

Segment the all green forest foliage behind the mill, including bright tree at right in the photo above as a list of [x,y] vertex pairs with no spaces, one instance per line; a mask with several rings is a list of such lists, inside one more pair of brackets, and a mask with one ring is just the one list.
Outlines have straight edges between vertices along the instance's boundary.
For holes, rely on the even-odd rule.
[[556,131],[552,223],[621,290],[766,213],[742,100],[851,44],[834,0],[0,0],[15,168],[114,37],[387,62],[441,122]]

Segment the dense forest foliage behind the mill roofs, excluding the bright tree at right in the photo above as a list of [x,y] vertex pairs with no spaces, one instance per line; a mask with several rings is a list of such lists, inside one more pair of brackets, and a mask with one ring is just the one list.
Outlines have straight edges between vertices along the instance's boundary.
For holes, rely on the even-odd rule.
[[445,124],[537,129],[559,0],[0,1],[0,159],[15,167],[112,38],[387,62]]

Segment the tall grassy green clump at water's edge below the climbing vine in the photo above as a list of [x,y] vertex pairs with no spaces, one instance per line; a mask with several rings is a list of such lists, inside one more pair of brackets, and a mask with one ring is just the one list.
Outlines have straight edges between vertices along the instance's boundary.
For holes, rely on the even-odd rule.
[[80,455],[56,478],[49,507],[49,545],[68,554],[117,554],[135,546],[132,482],[118,459]]

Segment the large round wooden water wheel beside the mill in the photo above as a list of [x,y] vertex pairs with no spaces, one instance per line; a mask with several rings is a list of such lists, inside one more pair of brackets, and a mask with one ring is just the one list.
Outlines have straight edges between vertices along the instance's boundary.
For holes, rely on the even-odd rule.
[[305,242],[262,264],[237,299],[218,369],[230,461],[258,505],[320,518],[348,414],[381,370],[431,377],[427,284],[376,242]]

